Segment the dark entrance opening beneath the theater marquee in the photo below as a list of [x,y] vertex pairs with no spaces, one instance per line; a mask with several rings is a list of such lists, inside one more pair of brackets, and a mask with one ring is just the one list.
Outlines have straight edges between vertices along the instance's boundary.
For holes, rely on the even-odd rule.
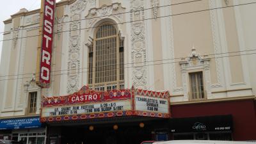
[[93,125],[93,131],[88,127],[61,127],[61,144],[140,144],[141,141],[152,140],[150,129],[141,128],[138,124],[118,125],[116,130],[112,124]]

